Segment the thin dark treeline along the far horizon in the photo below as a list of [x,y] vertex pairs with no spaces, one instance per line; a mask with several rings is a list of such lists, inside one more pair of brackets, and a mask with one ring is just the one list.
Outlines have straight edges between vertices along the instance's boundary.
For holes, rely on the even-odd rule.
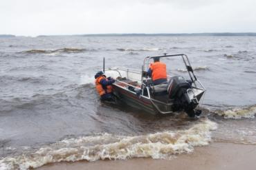
[[[46,35],[39,35],[43,37]],[[55,36],[256,36],[256,32],[221,32],[221,33],[179,33],[179,34],[74,34]]]

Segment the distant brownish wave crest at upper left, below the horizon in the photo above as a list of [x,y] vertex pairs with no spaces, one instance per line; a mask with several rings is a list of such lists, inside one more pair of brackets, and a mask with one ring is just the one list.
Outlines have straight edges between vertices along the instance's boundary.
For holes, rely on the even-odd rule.
[[64,47],[57,50],[27,50],[23,51],[21,53],[27,53],[27,54],[52,54],[55,52],[63,52],[63,53],[78,53],[78,52],[84,52],[86,49],[84,48],[72,48],[72,47]]

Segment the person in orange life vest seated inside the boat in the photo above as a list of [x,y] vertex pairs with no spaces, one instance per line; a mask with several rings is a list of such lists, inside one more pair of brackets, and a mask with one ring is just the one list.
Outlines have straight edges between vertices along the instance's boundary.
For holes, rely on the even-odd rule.
[[158,57],[154,58],[154,63],[151,63],[147,76],[152,77],[154,85],[159,85],[167,81],[166,65],[162,63]]

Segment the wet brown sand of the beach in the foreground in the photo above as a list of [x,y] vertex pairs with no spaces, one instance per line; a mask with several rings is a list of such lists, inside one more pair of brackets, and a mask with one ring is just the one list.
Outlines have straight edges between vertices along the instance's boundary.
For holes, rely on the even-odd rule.
[[39,170],[85,169],[190,169],[190,170],[255,170],[256,145],[214,142],[206,147],[196,147],[193,153],[175,156],[172,160],[133,158],[130,160],[98,160],[95,162],[60,162],[46,164]]

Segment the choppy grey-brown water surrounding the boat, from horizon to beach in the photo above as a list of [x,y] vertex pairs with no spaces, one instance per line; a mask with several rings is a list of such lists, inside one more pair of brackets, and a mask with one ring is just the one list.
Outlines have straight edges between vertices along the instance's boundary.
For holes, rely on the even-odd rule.
[[[203,116],[151,116],[100,103],[94,74],[188,54],[207,93]],[[0,169],[62,160],[170,158],[196,146],[256,143],[256,37],[46,36],[0,39]],[[185,76],[181,59],[165,60]]]

